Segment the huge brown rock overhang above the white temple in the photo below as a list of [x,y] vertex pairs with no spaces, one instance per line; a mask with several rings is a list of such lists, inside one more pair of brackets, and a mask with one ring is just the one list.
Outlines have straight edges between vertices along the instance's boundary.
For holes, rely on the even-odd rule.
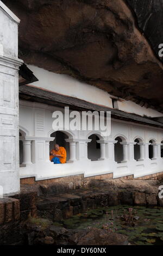
[[[3,2],[21,19],[20,57],[26,63],[162,111],[162,64],[137,28],[133,11],[157,51],[154,38],[161,27],[153,29],[155,14],[151,13],[162,7],[162,0],[128,1],[130,7],[123,0]],[[147,2],[152,9],[151,4],[145,8]]]

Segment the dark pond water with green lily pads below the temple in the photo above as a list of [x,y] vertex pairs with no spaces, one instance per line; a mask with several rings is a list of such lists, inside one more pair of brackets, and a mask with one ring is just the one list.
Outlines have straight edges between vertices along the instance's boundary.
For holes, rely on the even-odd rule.
[[[133,221],[128,222],[131,208]],[[61,224],[69,229],[87,229],[96,227],[128,236],[131,245],[163,245],[163,208],[118,205],[88,210]]]

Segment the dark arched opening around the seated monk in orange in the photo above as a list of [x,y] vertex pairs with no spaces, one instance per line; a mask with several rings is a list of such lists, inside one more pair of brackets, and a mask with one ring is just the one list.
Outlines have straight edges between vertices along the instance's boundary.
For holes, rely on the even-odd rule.
[[51,137],[55,137],[54,141],[50,142],[49,150],[51,151],[54,149],[54,145],[58,144],[60,147],[64,147],[66,149],[67,157],[66,162],[70,159],[70,145],[65,139],[68,139],[66,133],[61,131],[56,131],[51,134]]

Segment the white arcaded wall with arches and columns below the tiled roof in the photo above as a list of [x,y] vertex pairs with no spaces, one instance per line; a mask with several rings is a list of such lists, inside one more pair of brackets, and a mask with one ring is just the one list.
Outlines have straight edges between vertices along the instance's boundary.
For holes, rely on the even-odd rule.
[[[67,143],[70,145],[70,160],[65,164],[53,164],[49,161],[49,143],[54,140],[51,134],[52,113],[64,109],[48,106],[40,103],[20,101],[20,132],[23,136],[25,149],[25,161],[20,168],[21,178],[35,176],[36,180],[58,178],[61,176],[84,174],[93,176],[113,173],[114,178],[132,175],[139,176],[162,172],[163,159],[161,158],[161,142],[163,131],[159,128],[111,119],[111,135],[103,137],[102,133],[91,131],[66,131]],[[26,116],[26,118],[24,118]],[[90,135],[96,134],[101,144],[100,157],[97,161],[88,159],[87,144],[90,143]],[[116,138],[121,138],[123,148],[123,161],[115,162]],[[141,157],[139,161],[134,159],[134,142],[139,139]],[[153,159],[149,159],[149,141],[153,140]],[[94,144],[96,146],[96,143]],[[96,148],[92,145],[92,160],[96,156]],[[116,152],[116,154],[119,154]]]

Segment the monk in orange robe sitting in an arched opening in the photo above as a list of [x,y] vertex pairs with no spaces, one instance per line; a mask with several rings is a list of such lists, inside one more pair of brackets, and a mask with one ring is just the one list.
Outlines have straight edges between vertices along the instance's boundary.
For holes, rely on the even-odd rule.
[[58,144],[50,152],[50,161],[55,163],[66,163],[66,149]]

